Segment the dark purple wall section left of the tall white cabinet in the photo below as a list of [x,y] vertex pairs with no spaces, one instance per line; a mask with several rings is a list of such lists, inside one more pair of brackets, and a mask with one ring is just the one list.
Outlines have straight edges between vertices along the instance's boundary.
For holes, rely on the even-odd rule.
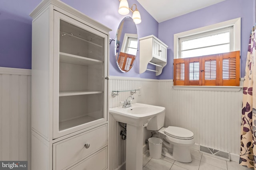
[[[35,8],[38,2],[27,2]],[[40,2],[40,0],[38,0]],[[26,2],[0,1],[0,66],[31,68],[31,18]]]

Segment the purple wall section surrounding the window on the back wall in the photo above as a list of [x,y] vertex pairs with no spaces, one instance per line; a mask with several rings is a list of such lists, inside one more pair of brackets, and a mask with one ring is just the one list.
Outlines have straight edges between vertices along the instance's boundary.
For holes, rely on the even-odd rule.
[[226,0],[159,23],[158,36],[168,47],[168,63],[159,79],[173,79],[173,35],[241,17],[241,76],[244,77],[250,32],[254,25],[254,0]]

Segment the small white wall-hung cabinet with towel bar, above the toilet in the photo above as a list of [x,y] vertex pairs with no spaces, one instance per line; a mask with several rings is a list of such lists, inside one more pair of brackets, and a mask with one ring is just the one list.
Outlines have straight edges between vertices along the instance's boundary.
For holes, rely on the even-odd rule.
[[[140,74],[148,70],[156,72],[156,76],[160,75],[167,64],[167,48],[154,35],[140,38]],[[148,69],[148,64],[154,65],[156,69]]]

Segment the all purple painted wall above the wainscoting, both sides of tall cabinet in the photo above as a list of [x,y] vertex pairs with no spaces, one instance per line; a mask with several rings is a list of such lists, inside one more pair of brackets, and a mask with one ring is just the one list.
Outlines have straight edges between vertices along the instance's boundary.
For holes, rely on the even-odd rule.
[[[118,14],[119,0],[62,0],[92,19],[110,27],[110,38],[116,36],[120,21],[125,16]],[[29,14],[41,0],[0,0],[0,66],[31,68],[31,25]],[[136,0],[128,0],[130,6],[136,3],[142,22],[137,24],[138,37],[155,35],[168,47],[168,63],[160,76],[146,71],[139,74],[139,51],[133,68],[126,73],[120,72],[114,57],[115,43],[110,45],[110,76],[125,76],[152,79],[173,78],[173,35],[190,29],[214,23],[242,18],[241,32],[241,77],[244,76],[246,51],[250,30],[254,24],[254,0],[226,0],[201,10],[157,23]],[[130,12],[127,16],[132,16]]]

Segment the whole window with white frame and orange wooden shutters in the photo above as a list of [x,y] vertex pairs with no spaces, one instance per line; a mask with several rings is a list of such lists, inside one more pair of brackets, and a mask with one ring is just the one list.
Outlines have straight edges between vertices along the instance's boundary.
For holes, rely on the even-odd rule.
[[175,34],[174,85],[239,86],[240,25],[236,18]]

